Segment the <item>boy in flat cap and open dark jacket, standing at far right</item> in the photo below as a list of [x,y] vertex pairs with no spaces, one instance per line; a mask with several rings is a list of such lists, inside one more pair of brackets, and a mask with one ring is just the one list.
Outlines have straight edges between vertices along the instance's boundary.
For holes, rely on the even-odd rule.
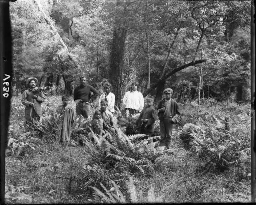
[[172,99],[173,90],[166,88],[163,92],[165,98],[161,100],[157,107],[157,113],[160,120],[161,146],[170,149],[172,146],[173,123],[176,123],[176,115],[181,113],[179,104]]

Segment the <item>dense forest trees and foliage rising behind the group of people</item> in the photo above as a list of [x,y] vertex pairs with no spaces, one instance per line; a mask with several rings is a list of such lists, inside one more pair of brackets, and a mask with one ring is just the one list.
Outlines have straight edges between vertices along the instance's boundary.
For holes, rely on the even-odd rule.
[[[250,88],[250,1],[20,0],[10,4],[13,88],[72,94],[81,73],[116,105],[133,80],[144,97],[174,88],[178,101],[246,101]],[[199,83],[200,82],[200,83]]]

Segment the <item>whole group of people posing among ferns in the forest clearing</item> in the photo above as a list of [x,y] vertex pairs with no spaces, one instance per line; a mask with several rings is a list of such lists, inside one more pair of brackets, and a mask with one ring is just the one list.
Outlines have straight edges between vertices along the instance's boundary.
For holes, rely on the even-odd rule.
[[[76,115],[82,115],[85,118],[90,118],[90,108],[99,96],[99,92],[86,83],[86,78],[81,76],[79,78],[80,84],[74,89],[73,99],[76,103],[76,108],[69,106],[70,98],[66,95],[62,96],[63,104],[58,106],[57,112],[62,114],[62,141],[69,142],[71,135],[71,126],[75,121]],[[42,120],[41,103],[44,102],[45,97],[42,91],[36,90],[38,80],[34,77],[28,78],[26,83],[28,89],[22,94],[22,104],[25,105],[25,120],[33,122],[33,119]],[[144,97],[141,92],[138,92],[139,83],[134,81],[131,84],[131,90],[126,92],[123,97],[123,109],[125,112],[129,111],[131,114],[138,114],[139,118],[136,123],[141,128],[141,132],[153,136],[154,123],[159,118],[160,120],[160,133],[161,133],[161,146],[166,146],[167,149],[172,145],[172,126],[177,122],[177,115],[180,114],[179,104],[172,99],[173,90],[166,88],[164,90],[165,98],[158,104],[155,110],[154,98],[147,96],[144,104]],[[116,125],[114,123],[115,113],[115,95],[111,92],[112,86],[109,82],[103,84],[104,92],[99,97],[99,107],[96,109],[91,126],[95,134],[101,135],[103,130],[107,130],[115,134]],[[93,93],[93,95],[92,95]],[[125,121],[120,121],[119,124]]]

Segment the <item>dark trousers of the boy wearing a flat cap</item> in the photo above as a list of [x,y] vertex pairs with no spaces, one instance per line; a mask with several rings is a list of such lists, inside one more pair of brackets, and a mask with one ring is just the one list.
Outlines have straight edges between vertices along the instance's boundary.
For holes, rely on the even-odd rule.
[[166,146],[167,149],[170,149],[172,146],[172,129],[173,125],[171,122],[172,118],[164,118],[163,121],[160,121],[160,134],[161,134],[161,146]]

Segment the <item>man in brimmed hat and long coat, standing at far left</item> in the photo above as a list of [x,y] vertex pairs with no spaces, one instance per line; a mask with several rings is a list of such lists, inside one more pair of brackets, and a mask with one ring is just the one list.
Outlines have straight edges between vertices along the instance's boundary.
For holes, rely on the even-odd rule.
[[42,108],[41,103],[45,101],[45,97],[42,91],[35,90],[37,78],[31,77],[26,81],[28,87],[21,96],[21,102],[25,105],[25,120],[33,122],[33,119],[41,120]]

